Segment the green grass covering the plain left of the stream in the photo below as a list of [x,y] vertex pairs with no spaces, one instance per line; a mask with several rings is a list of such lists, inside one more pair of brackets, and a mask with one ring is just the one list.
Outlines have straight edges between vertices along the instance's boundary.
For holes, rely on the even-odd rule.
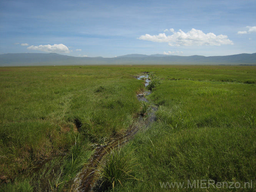
[[122,134],[140,110],[136,92],[143,81],[129,68],[21,67],[0,73],[0,176],[7,189],[23,189],[27,178],[35,191],[63,190],[93,146]]

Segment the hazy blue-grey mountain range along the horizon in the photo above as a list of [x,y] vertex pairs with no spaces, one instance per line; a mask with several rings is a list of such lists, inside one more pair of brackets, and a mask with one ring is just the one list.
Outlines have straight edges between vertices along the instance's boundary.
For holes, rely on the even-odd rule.
[[39,65],[256,65],[256,53],[228,56],[176,56],[131,54],[113,58],[74,57],[57,53],[8,53],[0,55],[0,66]]

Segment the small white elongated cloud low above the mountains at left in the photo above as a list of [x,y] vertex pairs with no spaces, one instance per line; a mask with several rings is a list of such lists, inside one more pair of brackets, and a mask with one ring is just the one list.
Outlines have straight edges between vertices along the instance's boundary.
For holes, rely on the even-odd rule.
[[30,50],[38,50],[38,51],[45,51],[49,53],[70,53],[70,50],[68,50],[67,46],[63,44],[54,44],[54,45],[39,45],[39,46],[29,46],[27,49]]

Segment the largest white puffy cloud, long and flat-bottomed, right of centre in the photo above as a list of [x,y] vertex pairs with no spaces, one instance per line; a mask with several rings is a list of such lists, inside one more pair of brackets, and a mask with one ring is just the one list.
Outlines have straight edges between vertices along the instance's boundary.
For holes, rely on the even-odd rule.
[[170,46],[201,46],[201,45],[233,45],[233,41],[226,35],[215,35],[214,33],[203,33],[201,30],[191,29],[187,33],[182,30],[175,31],[173,28],[165,30],[173,35],[160,33],[158,35],[141,35],[138,39],[158,43],[168,43]]

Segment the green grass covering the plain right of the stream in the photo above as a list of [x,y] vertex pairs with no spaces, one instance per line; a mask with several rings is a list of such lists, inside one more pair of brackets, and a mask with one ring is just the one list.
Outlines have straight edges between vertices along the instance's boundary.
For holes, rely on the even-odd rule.
[[256,87],[243,83],[256,71],[229,70],[180,66],[155,73],[161,84],[148,99],[158,105],[157,122],[133,140],[141,163],[135,177],[143,182],[127,181],[115,191],[205,191],[160,186],[201,179],[241,184],[252,180],[252,188],[239,190],[256,190]]

